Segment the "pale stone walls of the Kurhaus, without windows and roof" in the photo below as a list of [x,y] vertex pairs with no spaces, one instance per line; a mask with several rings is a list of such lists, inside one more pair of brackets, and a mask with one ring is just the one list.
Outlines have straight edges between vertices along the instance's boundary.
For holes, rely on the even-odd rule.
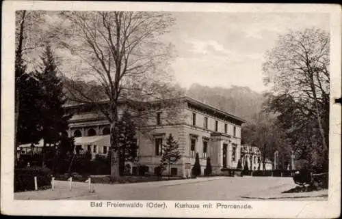
[[[241,127],[231,121],[225,121],[219,117],[214,117],[205,113],[205,111],[188,108],[187,104],[181,104],[177,108],[163,108],[159,110],[151,109],[146,113],[144,120],[144,129],[137,133],[137,144],[139,145],[138,155],[140,156],[139,164],[148,166],[148,173],[153,174],[155,168],[161,162],[161,156],[155,154],[155,138],[166,138],[169,134],[179,142],[179,150],[182,158],[173,164],[171,168],[177,168],[177,174],[183,177],[191,175],[191,171],[186,166],[194,166],[196,152],[198,152],[201,165],[201,173],[204,174],[207,164],[207,157],[211,157],[211,166],[213,170],[220,171],[222,169],[222,148],[223,143],[228,144],[227,148],[227,168],[236,168],[238,158],[240,157]],[[161,124],[157,124],[157,113],[161,112]],[[196,113],[196,125],[192,123],[192,113]],[[205,128],[205,117],[208,118],[208,126]],[[215,131],[215,121],[218,121],[218,130]],[[172,125],[170,125],[172,124]],[[221,141],[211,141],[213,132],[225,133],[224,124],[227,125],[226,137]],[[70,119],[68,134],[73,136],[76,130],[81,131],[81,136],[88,136],[90,128],[96,131],[96,135],[103,134],[103,129],[109,127],[109,122],[94,112],[80,113]],[[234,132],[235,128],[235,132]],[[195,137],[196,147],[194,154],[190,153],[191,138]],[[207,156],[203,154],[203,140],[208,139]],[[236,160],[231,159],[232,147],[237,147]],[[86,149],[87,145],[84,146]],[[98,150],[100,149],[99,146]],[[166,170],[164,173],[168,173]]]

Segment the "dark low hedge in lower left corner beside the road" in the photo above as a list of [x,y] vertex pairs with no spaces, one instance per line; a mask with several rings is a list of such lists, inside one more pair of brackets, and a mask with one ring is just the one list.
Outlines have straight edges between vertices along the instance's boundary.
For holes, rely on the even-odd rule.
[[14,170],[14,192],[35,190],[34,177],[37,177],[38,189],[51,188],[50,169],[31,166]]

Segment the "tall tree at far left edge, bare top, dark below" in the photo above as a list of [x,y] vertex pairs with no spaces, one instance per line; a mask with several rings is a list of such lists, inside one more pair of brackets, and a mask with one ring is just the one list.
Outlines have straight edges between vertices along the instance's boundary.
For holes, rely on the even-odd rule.
[[[44,19],[45,13],[42,11],[34,11],[34,10],[18,10],[16,11],[16,58],[15,58],[15,132],[14,132],[14,154],[16,158],[16,148],[21,141],[36,141],[38,137],[37,133],[31,133],[33,138],[31,140],[29,138],[29,134],[23,134],[23,130],[31,130],[33,132],[34,126],[38,128],[38,120],[31,121],[31,128],[25,128],[25,121],[33,118],[27,118],[25,115],[20,116],[21,113],[24,113],[25,109],[21,106],[21,100],[31,100],[31,104],[29,108],[27,108],[26,113],[28,113],[29,109],[34,109],[34,107],[38,107],[38,102],[36,102],[36,97],[38,95],[29,92],[38,89],[37,81],[34,72],[36,66],[36,58],[35,55],[37,50],[43,47],[44,42],[47,38],[48,31],[42,29],[42,23],[45,22]],[[36,82],[35,82],[36,81]],[[25,87],[25,86],[29,86]],[[33,86],[36,86],[34,88]],[[24,97],[25,95],[31,96],[31,99],[26,99],[29,97]],[[22,97],[22,98],[21,98]],[[25,104],[24,104],[25,105]],[[28,107],[28,106],[24,106]],[[37,114],[31,114],[32,117],[35,117]],[[19,119],[25,119],[25,121],[18,121]],[[26,124],[29,124],[27,122]],[[36,124],[36,125],[34,125]],[[38,128],[39,129],[39,128]],[[19,132],[19,133],[18,133]],[[17,136],[17,134],[21,136]],[[23,136],[25,136],[23,138]],[[22,142],[22,143],[23,143]],[[16,162],[16,159],[14,160]]]

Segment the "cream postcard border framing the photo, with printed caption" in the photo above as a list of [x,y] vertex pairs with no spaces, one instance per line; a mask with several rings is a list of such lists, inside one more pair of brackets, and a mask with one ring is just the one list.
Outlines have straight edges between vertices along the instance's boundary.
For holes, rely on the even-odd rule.
[[[319,12],[330,14],[330,178],[328,201],[224,201],[253,209],[94,208],[90,201],[16,201],[13,194],[15,10],[146,10],[178,12]],[[335,218],[341,209],[341,7],[328,4],[128,3],[4,1],[1,59],[1,213],[31,216],[145,216],[197,218]],[[335,134],[339,133],[339,134]],[[147,201],[140,201],[146,203]],[[212,203],[218,203],[213,201]],[[187,203],[203,203],[187,201]]]

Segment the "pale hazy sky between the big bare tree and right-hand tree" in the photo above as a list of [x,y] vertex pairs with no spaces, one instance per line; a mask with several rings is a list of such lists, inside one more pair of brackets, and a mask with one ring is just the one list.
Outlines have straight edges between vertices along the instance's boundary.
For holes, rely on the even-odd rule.
[[176,47],[172,62],[182,87],[248,86],[264,91],[261,66],[278,34],[306,27],[329,31],[328,14],[173,13],[176,24],[163,36]]

